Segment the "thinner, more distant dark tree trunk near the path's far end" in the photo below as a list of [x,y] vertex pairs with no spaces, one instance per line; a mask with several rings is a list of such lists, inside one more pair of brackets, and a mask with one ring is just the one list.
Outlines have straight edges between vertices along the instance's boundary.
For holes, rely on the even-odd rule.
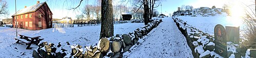
[[144,4],[144,24],[147,25],[148,21],[150,21],[149,18],[149,10],[150,8],[148,8],[148,1],[147,0],[143,0],[143,4]]

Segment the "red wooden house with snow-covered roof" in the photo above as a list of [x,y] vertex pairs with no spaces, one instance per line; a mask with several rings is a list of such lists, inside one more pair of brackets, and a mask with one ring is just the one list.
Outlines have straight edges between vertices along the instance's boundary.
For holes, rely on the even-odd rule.
[[28,30],[41,30],[52,28],[52,12],[46,2],[39,3],[36,5],[27,7],[19,10],[16,14],[12,15],[12,25],[17,28],[28,29]]

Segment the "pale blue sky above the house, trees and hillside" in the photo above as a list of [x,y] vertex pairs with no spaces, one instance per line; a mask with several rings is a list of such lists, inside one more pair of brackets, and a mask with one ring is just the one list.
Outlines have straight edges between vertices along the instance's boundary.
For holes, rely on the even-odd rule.
[[[10,16],[15,13],[15,0],[7,0],[8,3],[8,9],[10,12]],[[35,5],[37,1],[42,2],[47,2],[49,5],[51,11],[53,12],[53,18],[60,19],[65,16],[69,16],[75,19],[76,14],[81,14],[81,9],[86,5],[86,4],[96,4],[96,0],[89,0],[89,3],[87,3],[87,0],[83,1],[81,6],[77,10],[67,10],[71,7],[76,7],[79,3],[80,0],[74,1],[74,2],[64,2],[64,1],[46,1],[46,0],[17,0],[16,1],[16,6],[17,6],[17,11],[20,9],[23,9],[25,6],[29,7],[32,5]],[[165,15],[168,15],[169,13],[173,13],[174,11],[177,11],[178,7],[181,7],[182,5],[189,5],[193,6],[195,8],[200,8],[200,7],[209,7],[211,8],[212,6],[216,6],[216,8],[222,8],[224,4],[230,3],[231,0],[163,0],[161,2],[162,4],[162,13]],[[235,0],[236,1],[236,0]],[[241,1],[241,0],[237,0]],[[248,0],[247,0],[248,1]],[[118,1],[113,0],[114,3],[118,3]],[[121,4],[121,3],[118,3]],[[113,4],[116,5],[116,4]],[[161,6],[156,8],[159,13],[161,13]],[[11,18],[11,17],[8,18]],[[3,17],[2,17],[3,18]]]

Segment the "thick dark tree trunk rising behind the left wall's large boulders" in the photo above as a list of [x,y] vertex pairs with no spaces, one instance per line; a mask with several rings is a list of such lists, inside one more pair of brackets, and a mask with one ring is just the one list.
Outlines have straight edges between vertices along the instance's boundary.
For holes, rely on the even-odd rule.
[[101,0],[100,38],[114,36],[112,0]]

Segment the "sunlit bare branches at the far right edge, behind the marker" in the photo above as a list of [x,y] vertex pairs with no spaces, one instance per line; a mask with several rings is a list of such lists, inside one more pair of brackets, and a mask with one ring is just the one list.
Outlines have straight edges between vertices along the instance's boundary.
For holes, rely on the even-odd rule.
[[256,8],[255,5],[247,6],[248,9],[245,10],[246,17],[243,18],[246,27],[244,28],[243,37],[245,39],[243,39],[242,46],[247,48],[256,48],[256,9],[253,11],[253,8]]

